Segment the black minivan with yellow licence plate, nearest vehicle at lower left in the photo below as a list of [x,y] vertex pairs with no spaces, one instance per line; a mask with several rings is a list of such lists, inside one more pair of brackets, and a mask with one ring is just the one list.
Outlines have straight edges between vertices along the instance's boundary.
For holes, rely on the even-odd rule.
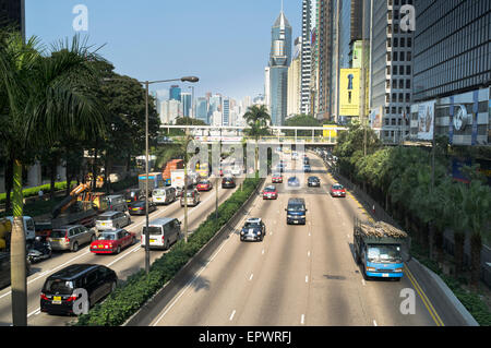
[[41,289],[40,311],[48,314],[81,314],[80,290],[87,295],[86,308],[111,293],[118,284],[116,272],[95,264],[74,264],[50,275]]

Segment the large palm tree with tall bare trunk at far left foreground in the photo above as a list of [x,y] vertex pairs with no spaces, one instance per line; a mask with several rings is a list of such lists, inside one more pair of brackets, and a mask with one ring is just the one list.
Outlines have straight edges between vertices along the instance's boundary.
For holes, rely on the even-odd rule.
[[27,325],[26,245],[22,224],[23,154],[49,147],[61,134],[86,136],[105,130],[103,107],[92,93],[97,85],[91,61],[98,57],[80,45],[60,43],[44,56],[36,38],[24,43],[19,33],[0,34],[0,91],[8,97],[9,122],[3,127],[13,158],[11,237],[12,320]]

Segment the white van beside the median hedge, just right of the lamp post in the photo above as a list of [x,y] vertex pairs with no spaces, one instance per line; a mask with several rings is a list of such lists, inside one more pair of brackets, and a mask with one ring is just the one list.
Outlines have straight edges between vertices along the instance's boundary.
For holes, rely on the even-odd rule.
[[[143,226],[141,242],[145,247],[146,226]],[[169,249],[170,244],[177,242],[181,236],[181,223],[173,217],[163,217],[149,221],[148,239],[149,248]]]

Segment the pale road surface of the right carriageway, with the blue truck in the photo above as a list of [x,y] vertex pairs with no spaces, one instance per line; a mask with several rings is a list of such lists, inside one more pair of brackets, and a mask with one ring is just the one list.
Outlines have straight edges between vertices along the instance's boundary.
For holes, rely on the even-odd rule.
[[[438,325],[408,276],[400,281],[363,279],[354,259],[352,227],[354,217],[366,219],[367,213],[350,194],[331,197],[332,177],[320,157],[311,153],[309,157],[310,175],[321,178],[321,188],[307,188],[304,179],[310,175],[306,175],[298,191],[284,183],[276,184],[278,200],[259,196],[230,238],[205,266],[190,275],[188,286],[151,325]],[[297,167],[290,164],[284,181]],[[286,224],[285,208],[291,196],[306,199],[306,226]],[[238,232],[248,217],[264,220],[264,241],[240,241]],[[409,314],[400,311],[406,291],[415,295],[415,310]]]

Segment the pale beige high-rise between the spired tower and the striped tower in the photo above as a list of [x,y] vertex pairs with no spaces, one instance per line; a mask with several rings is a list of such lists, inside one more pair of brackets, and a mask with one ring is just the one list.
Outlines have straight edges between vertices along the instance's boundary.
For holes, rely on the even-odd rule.
[[[302,65],[301,65],[301,37],[295,40],[294,59],[291,60],[290,67],[288,68],[288,100],[287,100],[287,116],[295,116],[300,113],[307,113],[301,108],[301,76],[302,76]],[[309,80],[310,83],[310,80]],[[309,101],[307,99],[307,101]],[[307,103],[308,104],[308,103]],[[308,111],[308,109],[307,109]]]

